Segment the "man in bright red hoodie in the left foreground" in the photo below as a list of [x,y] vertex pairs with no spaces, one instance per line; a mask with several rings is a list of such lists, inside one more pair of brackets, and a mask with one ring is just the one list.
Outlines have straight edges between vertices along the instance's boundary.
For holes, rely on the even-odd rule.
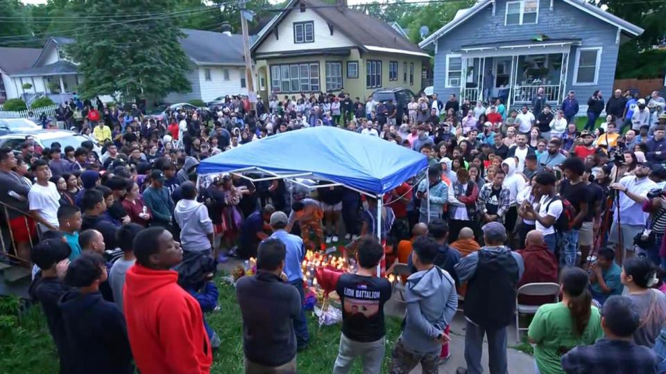
[[180,243],[162,227],[137,234],[137,262],[127,271],[123,309],[130,346],[142,374],[210,373],[212,353],[201,308],[177,283],[171,267]]

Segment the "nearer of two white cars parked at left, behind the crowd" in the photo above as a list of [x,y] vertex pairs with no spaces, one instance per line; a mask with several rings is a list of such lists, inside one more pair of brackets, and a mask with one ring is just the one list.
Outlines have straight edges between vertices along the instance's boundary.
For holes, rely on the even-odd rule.
[[9,147],[12,150],[21,150],[21,145],[26,141],[26,136],[32,135],[35,138],[35,143],[42,148],[51,148],[53,143],[60,143],[60,149],[65,150],[67,145],[71,145],[74,149],[79,148],[84,141],[92,141],[93,150],[99,157],[102,157],[102,148],[95,139],[83,134],[69,130],[36,130],[29,132],[12,132],[0,136],[0,147]]

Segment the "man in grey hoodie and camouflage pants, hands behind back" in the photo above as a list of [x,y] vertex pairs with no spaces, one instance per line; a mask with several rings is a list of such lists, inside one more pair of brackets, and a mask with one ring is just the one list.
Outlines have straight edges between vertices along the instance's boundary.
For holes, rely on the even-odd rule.
[[456,308],[458,294],[453,278],[433,264],[438,245],[432,238],[414,240],[412,262],[416,273],[407,278],[404,329],[393,348],[391,373],[409,373],[419,363],[424,374],[436,374],[445,334]]

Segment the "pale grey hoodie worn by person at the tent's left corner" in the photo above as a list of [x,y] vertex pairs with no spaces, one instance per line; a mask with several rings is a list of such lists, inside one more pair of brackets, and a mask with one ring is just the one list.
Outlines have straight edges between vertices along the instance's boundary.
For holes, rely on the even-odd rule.
[[208,234],[213,233],[213,222],[208,217],[208,209],[196,200],[182,199],[173,212],[180,226],[180,245],[185,251],[205,251],[210,249]]

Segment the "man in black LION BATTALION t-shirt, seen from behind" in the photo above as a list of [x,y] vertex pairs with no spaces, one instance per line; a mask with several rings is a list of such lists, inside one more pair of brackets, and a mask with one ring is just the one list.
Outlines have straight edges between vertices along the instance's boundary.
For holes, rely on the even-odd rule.
[[359,240],[356,274],[343,274],[336,292],[342,303],[342,334],[333,374],[349,373],[361,356],[364,373],[379,373],[386,350],[384,303],[391,299],[391,283],[377,278],[377,264],[384,249],[376,238],[366,235]]

